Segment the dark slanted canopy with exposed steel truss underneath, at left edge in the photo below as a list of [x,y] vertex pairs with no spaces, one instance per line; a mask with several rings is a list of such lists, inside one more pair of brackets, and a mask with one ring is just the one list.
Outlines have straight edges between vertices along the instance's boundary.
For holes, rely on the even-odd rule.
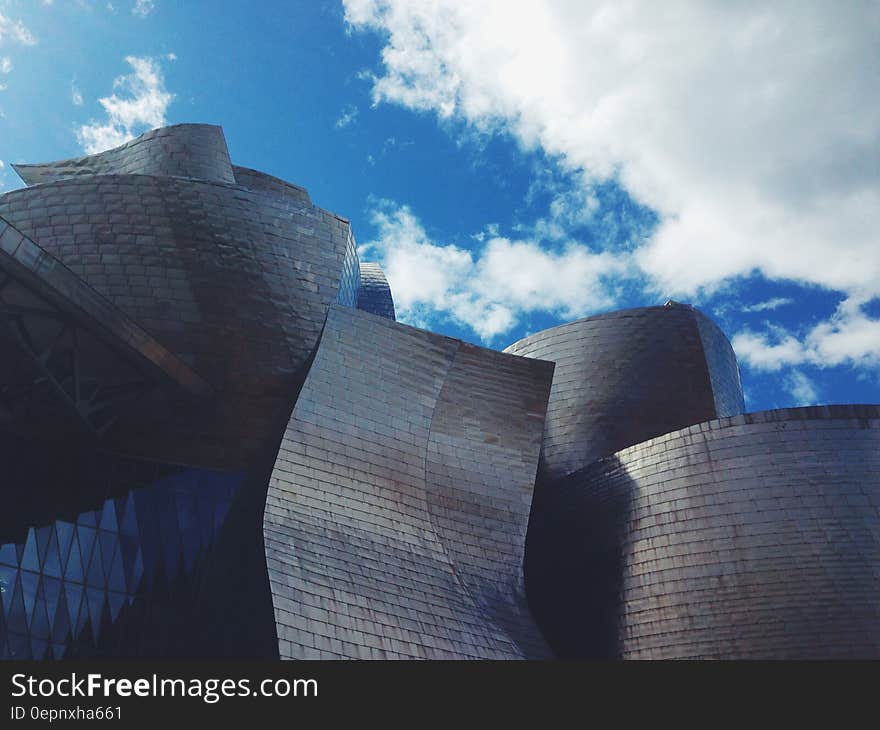
[[0,427],[21,434],[100,437],[133,398],[160,391],[192,407],[213,395],[179,357],[2,218],[0,352]]

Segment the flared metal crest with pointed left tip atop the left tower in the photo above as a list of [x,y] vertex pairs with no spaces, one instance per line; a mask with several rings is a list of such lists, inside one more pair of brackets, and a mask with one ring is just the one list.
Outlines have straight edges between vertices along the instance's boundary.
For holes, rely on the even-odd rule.
[[159,175],[235,183],[222,127],[177,124],[87,157],[13,165],[27,185],[91,175]]

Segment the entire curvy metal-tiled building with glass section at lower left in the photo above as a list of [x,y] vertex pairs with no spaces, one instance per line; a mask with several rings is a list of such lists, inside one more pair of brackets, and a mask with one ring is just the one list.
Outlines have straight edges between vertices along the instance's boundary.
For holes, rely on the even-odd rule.
[[675,302],[398,323],[219,127],[16,170],[0,657],[880,656],[877,406],[743,414]]

